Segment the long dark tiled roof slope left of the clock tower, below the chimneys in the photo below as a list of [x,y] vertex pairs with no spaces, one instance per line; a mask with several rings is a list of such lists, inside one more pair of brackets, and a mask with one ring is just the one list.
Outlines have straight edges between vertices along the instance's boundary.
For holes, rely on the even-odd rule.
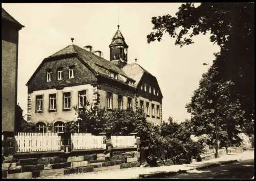
[[[87,51],[83,48],[80,48],[77,45],[69,45],[59,51],[57,51],[55,54],[49,56],[48,58],[52,57],[58,57],[63,56],[67,54],[73,54],[76,53],[78,56],[86,63],[88,64],[96,73],[107,75],[109,76],[109,70],[118,73],[119,75],[122,75],[124,77],[129,77],[121,68],[119,68],[114,63],[105,60],[101,57],[98,57],[97,55],[91,53],[90,51]],[[131,77],[129,77],[131,78]]]

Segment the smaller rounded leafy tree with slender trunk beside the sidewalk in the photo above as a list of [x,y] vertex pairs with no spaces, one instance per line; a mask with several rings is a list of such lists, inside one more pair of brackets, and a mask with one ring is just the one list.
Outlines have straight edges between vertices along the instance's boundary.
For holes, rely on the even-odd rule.
[[[231,81],[214,81],[217,75],[215,67],[210,67],[203,74],[199,88],[186,108],[192,115],[191,127],[195,135],[207,134],[211,138],[209,144],[220,140],[221,146],[227,149],[229,145],[239,145],[241,142],[238,134],[243,130],[244,111],[238,99],[230,98],[234,84]],[[216,144],[216,153],[217,149]]]

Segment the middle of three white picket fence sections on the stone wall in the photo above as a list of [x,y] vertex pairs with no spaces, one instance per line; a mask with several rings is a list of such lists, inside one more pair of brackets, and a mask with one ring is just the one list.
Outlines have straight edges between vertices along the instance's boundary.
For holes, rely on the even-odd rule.
[[78,149],[105,149],[104,136],[95,136],[90,133],[72,133],[72,150]]

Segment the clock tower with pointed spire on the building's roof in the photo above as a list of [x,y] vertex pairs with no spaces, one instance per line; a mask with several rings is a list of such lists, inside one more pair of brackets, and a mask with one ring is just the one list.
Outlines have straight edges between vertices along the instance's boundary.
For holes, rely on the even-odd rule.
[[110,44],[110,61],[116,64],[118,67],[123,68],[127,64],[127,48],[123,35],[117,25],[117,31]]

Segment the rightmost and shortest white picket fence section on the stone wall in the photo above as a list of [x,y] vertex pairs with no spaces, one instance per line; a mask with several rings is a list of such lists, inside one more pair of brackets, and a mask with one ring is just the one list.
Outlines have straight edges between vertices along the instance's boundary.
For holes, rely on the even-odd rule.
[[137,147],[135,136],[111,136],[114,148]]

